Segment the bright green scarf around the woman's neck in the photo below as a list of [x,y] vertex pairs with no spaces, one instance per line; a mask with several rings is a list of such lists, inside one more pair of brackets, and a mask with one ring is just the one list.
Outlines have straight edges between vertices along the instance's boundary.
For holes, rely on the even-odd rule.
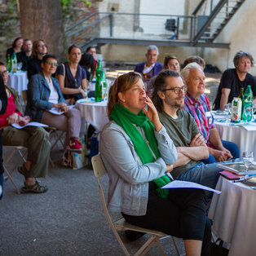
[[[154,152],[155,156],[160,157],[160,152],[157,148],[157,139],[154,134],[154,126],[152,122],[148,120],[143,111],[140,111],[138,115],[130,112],[127,108],[123,107],[121,104],[116,104],[113,112],[111,113],[109,120],[113,120],[117,125],[121,126],[126,134],[130,137],[132,143],[135,146],[135,151],[137,152],[143,165],[149,162],[155,161],[152,155]],[[148,142],[145,141],[143,136],[139,133],[139,130],[135,126],[143,127],[144,133]],[[148,144],[152,149],[152,152],[148,148]],[[165,175],[161,178],[154,179],[154,183],[157,184],[157,194],[162,198],[167,198],[168,189],[162,189],[162,186],[170,183],[170,179]]]

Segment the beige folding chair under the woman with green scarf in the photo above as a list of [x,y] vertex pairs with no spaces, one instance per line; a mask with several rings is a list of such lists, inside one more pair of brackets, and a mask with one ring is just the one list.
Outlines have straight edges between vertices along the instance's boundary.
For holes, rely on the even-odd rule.
[[[99,194],[100,194],[100,198],[101,198],[101,201],[102,201],[102,204],[103,204],[103,207],[104,207],[104,213],[105,213],[105,215],[108,219],[109,227],[112,229],[112,231],[113,231],[114,235],[116,236],[117,241],[121,245],[121,249],[123,249],[124,253],[126,255],[130,255],[128,250],[126,249],[126,246],[124,245],[123,241],[121,241],[121,237],[118,235],[117,231],[132,230],[132,231],[135,231],[135,232],[144,232],[144,233],[147,233],[147,234],[151,235],[148,238],[148,241],[146,241],[139,248],[139,250],[136,252],[135,255],[144,255],[144,254],[146,254],[148,252],[148,250],[151,249],[154,244],[157,244],[157,246],[160,249],[162,255],[166,255],[164,250],[162,249],[160,243],[159,243],[159,240],[162,239],[162,238],[168,237],[168,235],[166,235],[162,232],[157,232],[157,231],[154,231],[154,230],[150,230],[150,229],[146,229],[146,228],[142,228],[142,227],[137,227],[135,225],[131,225],[130,223],[126,223],[125,218],[121,218],[121,219],[113,222],[110,214],[108,213],[108,207],[106,205],[106,201],[105,201],[105,198],[104,198],[104,192],[103,192],[102,186],[100,184],[100,179],[99,179],[101,176],[103,176],[104,174],[107,173],[107,170],[104,166],[104,163],[103,163],[100,155],[96,155],[95,157],[92,157],[91,163],[92,163],[92,167],[93,167],[93,170],[94,170],[94,173],[95,173],[95,177],[98,180]],[[174,241],[174,237],[171,236],[171,238],[172,238],[172,241],[174,242],[174,246],[175,246],[175,249],[177,251],[177,254],[180,255],[179,254],[179,249],[176,245],[176,242]]]

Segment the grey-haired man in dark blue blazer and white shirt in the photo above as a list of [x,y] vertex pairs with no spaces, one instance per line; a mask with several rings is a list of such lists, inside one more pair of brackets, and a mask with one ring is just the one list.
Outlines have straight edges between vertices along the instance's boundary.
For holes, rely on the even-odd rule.
[[163,64],[157,62],[157,56],[159,54],[157,46],[148,46],[146,51],[146,62],[136,64],[135,72],[143,74],[143,82],[147,84],[147,95],[152,95],[152,86],[150,85],[150,79],[157,76],[157,73],[163,69]]

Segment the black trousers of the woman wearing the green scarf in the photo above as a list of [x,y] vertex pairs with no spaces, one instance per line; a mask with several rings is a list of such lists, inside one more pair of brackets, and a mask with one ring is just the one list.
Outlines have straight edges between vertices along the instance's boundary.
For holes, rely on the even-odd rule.
[[149,189],[146,215],[122,215],[128,223],[139,227],[183,240],[203,241],[201,255],[210,255],[211,227],[205,213],[205,192],[201,189],[171,188],[167,199],[160,198],[154,189]]

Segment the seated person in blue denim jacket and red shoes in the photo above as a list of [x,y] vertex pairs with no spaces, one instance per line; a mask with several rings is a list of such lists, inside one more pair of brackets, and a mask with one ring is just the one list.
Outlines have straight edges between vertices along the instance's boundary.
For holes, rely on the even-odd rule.
[[[67,131],[64,149],[82,152],[78,141],[81,129],[80,111],[77,108],[68,108],[58,80],[51,77],[56,72],[57,65],[55,55],[45,55],[42,58],[42,72],[29,80],[26,114],[33,121]],[[61,115],[50,113],[51,108],[58,108],[64,113]]]

